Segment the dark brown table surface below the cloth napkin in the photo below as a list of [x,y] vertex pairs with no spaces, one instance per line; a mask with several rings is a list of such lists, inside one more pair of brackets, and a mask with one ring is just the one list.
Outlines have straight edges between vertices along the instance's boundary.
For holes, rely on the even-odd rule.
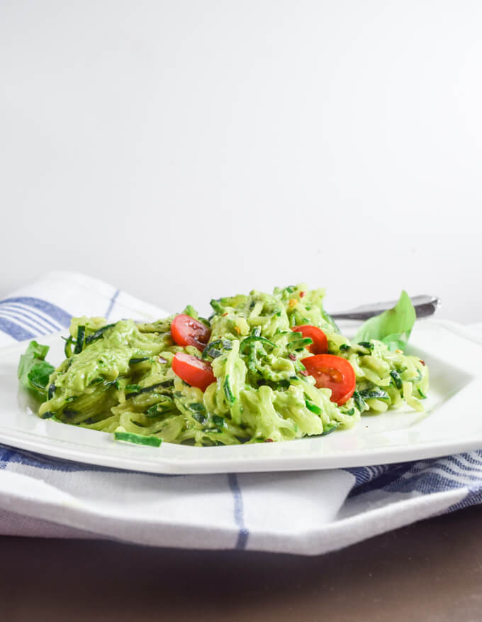
[[2,622],[480,621],[482,507],[301,557],[0,538]]

